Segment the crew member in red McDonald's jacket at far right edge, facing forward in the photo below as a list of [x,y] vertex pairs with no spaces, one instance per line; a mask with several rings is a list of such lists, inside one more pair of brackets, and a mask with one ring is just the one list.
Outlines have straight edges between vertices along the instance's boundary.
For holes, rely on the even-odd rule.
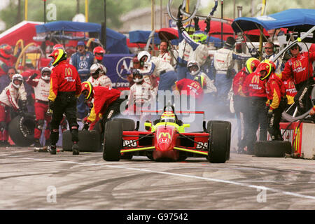
[[310,94],[314,85],[313,66],[315,52],[300,52],[302,48],[295,44],[290,48],[292,57],[282,71],[282,80],[293,78],[297,94],[294,102],[300,113],[305,113],[311,105]]

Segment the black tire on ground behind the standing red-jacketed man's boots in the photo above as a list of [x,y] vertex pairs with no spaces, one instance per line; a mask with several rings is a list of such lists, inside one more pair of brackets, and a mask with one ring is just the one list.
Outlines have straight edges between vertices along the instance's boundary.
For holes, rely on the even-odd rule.
[[[78,131],[78,148],[80,152],[97,152],[101,148],[99,133],[92,130]],[[70,130],[62,133],[62,149],[64,151],[72,151],[72,140]]]

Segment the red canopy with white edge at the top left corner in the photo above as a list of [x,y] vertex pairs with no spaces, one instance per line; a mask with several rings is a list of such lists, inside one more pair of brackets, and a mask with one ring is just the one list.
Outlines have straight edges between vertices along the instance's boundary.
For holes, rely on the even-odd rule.
[[[35,26],[41,25],[41,23],[42,22],[22,21],[18,23],[18,25],[3,31],[3,33],[0,34],[0,45],[7,43],[8,45],[14,46],[15,43],[20,39],[23,40],[24,45],[34,42],[33,36],[36,36]],[[35,43],[41,44],[40,42],[36,41]]]

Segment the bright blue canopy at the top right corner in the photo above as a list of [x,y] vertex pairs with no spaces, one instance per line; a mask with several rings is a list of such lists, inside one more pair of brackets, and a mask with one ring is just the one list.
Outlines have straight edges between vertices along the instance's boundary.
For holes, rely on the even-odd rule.
[[315,9],[291,8],[255,18],[236,18],[232,22],[232,28],[236,33],[241,31],[237,25],[243,31],[257,29],[257,25],[262,25],[266,30],[283,27],[293,31],[307,31],[315,25]]

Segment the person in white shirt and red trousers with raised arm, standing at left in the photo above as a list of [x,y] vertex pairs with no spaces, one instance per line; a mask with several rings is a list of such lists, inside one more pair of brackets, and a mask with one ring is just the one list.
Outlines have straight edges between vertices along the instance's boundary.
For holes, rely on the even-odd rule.
[[35,116],[36,116],[36,126],[34,129],[34,147],[41,147],[39,139],[41,138],[41,133],[46,122],[44,137],[45,146],[49,146],[50,137],[50,120],[51,116],[47,115],[48,111],[48,96],[50,90],[50,73],[51,69],[44,67],[41,69],[41,77],[37,77],[38,74],[34,73],[32,76],[27,78],[26,82],[29,83],[34,88],[35,94]]

